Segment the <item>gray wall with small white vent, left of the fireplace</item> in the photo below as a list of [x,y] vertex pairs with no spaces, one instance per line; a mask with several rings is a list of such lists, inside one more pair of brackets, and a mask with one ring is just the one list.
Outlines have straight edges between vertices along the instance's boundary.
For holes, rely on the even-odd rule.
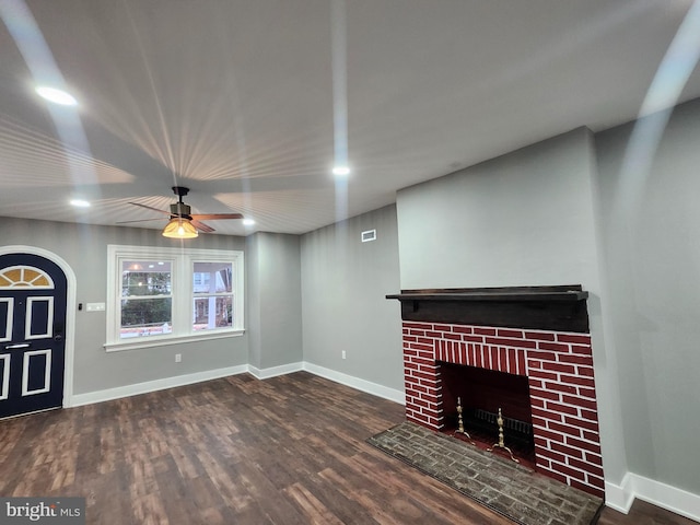
[[402,392],[400,308],[385,299],[399,290],[395,207],[307,233],[301,253],[304,360]]

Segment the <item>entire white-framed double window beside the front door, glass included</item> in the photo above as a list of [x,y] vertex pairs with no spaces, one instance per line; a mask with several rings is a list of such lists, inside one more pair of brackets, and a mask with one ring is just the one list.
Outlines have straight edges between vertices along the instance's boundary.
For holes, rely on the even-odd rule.
[[109,245],[108,351],[243,328],[242,252]]

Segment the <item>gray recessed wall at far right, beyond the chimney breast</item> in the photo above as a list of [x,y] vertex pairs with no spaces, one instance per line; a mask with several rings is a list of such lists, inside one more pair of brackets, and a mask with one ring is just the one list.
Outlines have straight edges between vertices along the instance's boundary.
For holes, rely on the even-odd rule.
[[[596,136],[630,471],[700,494],[700,101]],[[628,153],[630,156],[628,156]],[[645,158],[651,155],[652,162]]]

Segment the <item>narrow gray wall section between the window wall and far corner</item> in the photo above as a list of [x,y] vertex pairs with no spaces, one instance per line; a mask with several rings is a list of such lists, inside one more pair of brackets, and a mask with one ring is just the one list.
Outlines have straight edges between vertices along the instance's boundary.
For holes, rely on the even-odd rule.
[[246,237],[249,363],[264,370],[303,360],[300,237]]

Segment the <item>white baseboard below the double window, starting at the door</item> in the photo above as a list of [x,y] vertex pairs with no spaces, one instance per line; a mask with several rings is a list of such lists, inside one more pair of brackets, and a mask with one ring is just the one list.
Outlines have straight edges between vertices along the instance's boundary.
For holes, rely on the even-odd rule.
[[[91,405],[93,402],[109,401],[112,399],[120,399],[122,397],[137,396],[139,394],[148,394],[149,392],[164,390],[166,388],[173,388],[175,386],[191,385],[194,383],[201,383],[202,381],[218,380],[220,377],[226,377],[229,375],[242,374],[247,371],[248,366],[242,364],[240,366],[208,370],[206,372],[196,372],[194,374],[166,377],[164,380],[147,381],[145,383],[137,383],[135,385],[106,388],[104,390],[90,392],[88,394],[73,394],[70,400],[70,407],[80,407],[82,405]],[[67,406],[67,408],[69,407]]]

